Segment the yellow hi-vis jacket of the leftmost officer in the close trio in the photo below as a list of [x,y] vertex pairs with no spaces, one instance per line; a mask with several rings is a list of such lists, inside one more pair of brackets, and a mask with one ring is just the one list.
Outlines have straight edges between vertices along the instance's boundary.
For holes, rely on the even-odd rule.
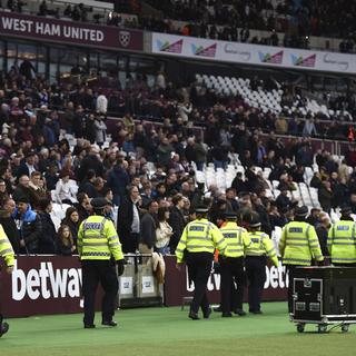
[[226,249],[226,241],[220,230],[207,219],[196,219],[189,222],[180,237],[176,248],[177,263],[184,260],[184,251],[189,253],[210,253],[217,248],[222,255]]

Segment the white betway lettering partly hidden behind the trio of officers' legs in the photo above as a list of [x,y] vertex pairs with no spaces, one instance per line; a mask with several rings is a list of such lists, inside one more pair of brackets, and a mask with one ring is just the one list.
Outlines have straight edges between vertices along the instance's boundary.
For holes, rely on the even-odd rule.
[[[189,276],[188,276],[188,269],[187,269],[187,291],[192,291],[194,290],[194,283],[189,285]],[[211,290],[220,290],[220,275],[219,274],[211,274],[208,283],[207,283],[207,289],[209,291]],[[278,267],[271,266],[267,267],[266,266],[266,281],[264,288],[288,288],[288,274],[286,274],[286,266],[281,266],[279,263]]]

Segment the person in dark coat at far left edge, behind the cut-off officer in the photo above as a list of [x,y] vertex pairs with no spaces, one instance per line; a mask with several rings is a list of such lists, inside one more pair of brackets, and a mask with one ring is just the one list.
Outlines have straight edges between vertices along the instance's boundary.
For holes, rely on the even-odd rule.
[[16,226],[12,214],[16,209],[16,202],[11,198],[3,200],[3,205],[0,210],[0,225],[2,225],[4,233],[7,234],[14,254],[20,253],[20,234]]

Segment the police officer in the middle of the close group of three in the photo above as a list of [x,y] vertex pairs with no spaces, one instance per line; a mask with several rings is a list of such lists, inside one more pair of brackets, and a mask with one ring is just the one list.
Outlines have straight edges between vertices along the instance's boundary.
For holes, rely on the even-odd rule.
[[250,246],[251,240],[247,230],[237,226],[236,221],[237,214],[235,211],[227,211],[225,212],[225,224],[220,228],[227,244],[224,256],[219,256],[222,317],[231,317],[230,310],[234,310],[239,316],[246,315],[243,309],[245,284],[244,257],[245,249]]

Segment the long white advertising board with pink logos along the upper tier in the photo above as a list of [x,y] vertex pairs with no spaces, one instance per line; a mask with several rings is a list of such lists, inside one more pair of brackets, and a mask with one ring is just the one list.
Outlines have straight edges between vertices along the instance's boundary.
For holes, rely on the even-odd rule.
[[241,65],[356,73],[356,55],[152,33],[152,53]]

